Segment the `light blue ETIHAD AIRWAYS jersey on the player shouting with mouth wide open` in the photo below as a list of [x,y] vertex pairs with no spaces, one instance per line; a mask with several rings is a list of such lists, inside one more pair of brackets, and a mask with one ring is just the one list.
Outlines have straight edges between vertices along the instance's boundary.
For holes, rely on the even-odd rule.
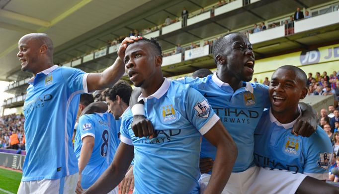
[[[268,87],[244,82],[242,88],[233,91],[216,73],[202,79],[186,77],[177,81],[189,84],[208,99],[234,139],[238,147],[238,157],[233,172],[243,172],[254,166],[254,129],[263,109],[270,106]],[[200,157],[214,160],[215,154],[216,148],[203,138]]]

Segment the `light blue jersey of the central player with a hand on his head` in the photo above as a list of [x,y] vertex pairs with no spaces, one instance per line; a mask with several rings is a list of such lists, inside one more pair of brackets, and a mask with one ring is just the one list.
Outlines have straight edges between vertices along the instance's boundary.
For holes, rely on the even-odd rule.
[[199,193],[201,135],[219,117],[196,90],[167,79],[147,98],[145,112],[157,137],[135,137],[130,110],[120,129],[121,142],[134,146],[134,193]]

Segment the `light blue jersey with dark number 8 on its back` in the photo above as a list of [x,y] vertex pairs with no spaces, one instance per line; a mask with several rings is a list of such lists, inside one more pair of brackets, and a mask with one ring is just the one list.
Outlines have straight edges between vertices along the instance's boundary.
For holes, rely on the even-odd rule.
[[94,147],[90,159],[82,172],[81,186],[89,188],[108,167],[107,155],[110,153],[110,128],[108,114],[85,114],[79,118],[78,130],[75,137],[74,149],[80,159],[83,138],[94,137]]

